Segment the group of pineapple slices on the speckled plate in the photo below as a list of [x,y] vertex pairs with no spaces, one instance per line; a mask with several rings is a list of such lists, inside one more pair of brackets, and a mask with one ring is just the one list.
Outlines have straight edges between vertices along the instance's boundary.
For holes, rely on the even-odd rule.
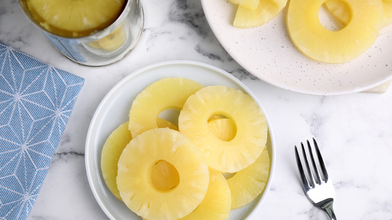
[[[287,0],[230,0],[238,5],[233,26],[261,26],[286,6]],[[258,4],[258,5],[257,5]],[[323,7],[344,28],[330,31],[319,21]],[[390,0],[290,0],[286,25],[292,43],[307,57],[344,63],[366,52],[383,26],[392,23]]]

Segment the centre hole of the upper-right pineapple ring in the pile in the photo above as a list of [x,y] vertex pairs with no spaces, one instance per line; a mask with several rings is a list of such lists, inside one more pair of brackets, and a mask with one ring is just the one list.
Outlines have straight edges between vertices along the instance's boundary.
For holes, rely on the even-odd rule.
[[211,132],[222,141],[231,141],[237,135],[237,126],[235,122],[220,114],[213,114],[208,119],[208,127]]

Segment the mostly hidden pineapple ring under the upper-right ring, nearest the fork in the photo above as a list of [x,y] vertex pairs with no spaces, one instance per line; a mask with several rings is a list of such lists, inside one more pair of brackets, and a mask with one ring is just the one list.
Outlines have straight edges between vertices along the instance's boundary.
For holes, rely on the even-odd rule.
[[[235,125],[230,119],[214,119],[209,122],[213,133],[222,140],[230,140],[235,134]],[[231,208],[242,207],[253,201],[264,189],[269,173],[267,148],[256,162],[236,173],[230,173],[227,182],[232,195]]]

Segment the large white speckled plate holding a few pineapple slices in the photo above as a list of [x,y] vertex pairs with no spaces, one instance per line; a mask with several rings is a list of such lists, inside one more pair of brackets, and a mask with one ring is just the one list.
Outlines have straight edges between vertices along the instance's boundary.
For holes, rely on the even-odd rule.
[[243,68],[277,87],[314,95],[359,92],[392,78],[392,33],[344,64],[319,63],[289,39],[286,8],[269,23],[250,29],[232,26],[237,7],[228,0],[202,0],[207,21],[226,51]]

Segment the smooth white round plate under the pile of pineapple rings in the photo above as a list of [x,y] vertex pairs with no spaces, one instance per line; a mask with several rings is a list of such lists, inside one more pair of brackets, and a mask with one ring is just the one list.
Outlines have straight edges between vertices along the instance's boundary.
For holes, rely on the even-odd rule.
[[[88,129],[85,147],[85,165],[88,182],[96,201],[111,219],[141,219],[133,213],[106,186],[101,172],[101,151],[106,139],[119,125],[127,122],[132,101],[149,84],[164,77],[192,79],[205,86],[226,85],[251,95],[260,105],[256,96],[241,81],[229,73],[203,63],[192,61],[169,61],[157,63],[131,73],[115,85],[97,107]],[[264,109],[263,109],[264,112]],[[266,116],[267,118],[267,116]],[[246,219],[260,206],[268,191],[275,167],[274,139],[268,122],[267,149],[270,157],[268,182],[264,191],[250,204],[230,211],[231,220]]]

